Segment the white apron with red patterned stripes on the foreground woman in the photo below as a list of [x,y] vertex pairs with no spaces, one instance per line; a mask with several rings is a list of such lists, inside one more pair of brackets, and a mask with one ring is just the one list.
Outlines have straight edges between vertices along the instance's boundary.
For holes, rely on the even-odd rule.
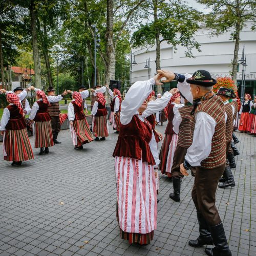
[[130,157],[115,157],[119,226],[147,234],[157,228],[157,191],[153,165]]

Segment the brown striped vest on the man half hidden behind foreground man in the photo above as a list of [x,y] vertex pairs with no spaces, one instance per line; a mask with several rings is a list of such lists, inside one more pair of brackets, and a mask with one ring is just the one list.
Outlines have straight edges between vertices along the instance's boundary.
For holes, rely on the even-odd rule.
[[188,148],[192,144],[190,113],[193,110],[193,105],[185,105],[178,109],[181,115],[181,123],[179,127],[179,136],[177,145]]

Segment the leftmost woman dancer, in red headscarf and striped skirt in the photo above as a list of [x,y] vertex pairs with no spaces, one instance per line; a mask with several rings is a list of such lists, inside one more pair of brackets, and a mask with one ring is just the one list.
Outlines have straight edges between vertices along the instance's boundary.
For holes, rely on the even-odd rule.
[[12,165],[21,165],[22,161],[33,159],[34,156],[19,98],[14,93],[9,93],[6,98],[9,106],[4,109],[0,123],[0,131],[4,135],[4,159],[12,161]]

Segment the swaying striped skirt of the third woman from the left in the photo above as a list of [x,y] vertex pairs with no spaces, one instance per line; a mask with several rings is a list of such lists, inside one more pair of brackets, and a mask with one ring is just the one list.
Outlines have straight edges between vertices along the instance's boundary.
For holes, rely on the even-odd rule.
[[82,144],[93,141],[90,127],[86,119],[74,120],[73,126],[70,125],[69,127],[74,146],[81,146]]

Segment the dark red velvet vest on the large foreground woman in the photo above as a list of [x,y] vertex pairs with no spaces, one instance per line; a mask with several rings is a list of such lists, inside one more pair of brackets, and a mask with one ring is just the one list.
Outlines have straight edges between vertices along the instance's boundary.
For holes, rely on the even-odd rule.
[[142,159],[143,162],[155,165],[149,145],[151,139],[151,124],[148,121],[142,122],[137,115],[134,115],[129,124],[120,123],[120,132],[113,157]]

